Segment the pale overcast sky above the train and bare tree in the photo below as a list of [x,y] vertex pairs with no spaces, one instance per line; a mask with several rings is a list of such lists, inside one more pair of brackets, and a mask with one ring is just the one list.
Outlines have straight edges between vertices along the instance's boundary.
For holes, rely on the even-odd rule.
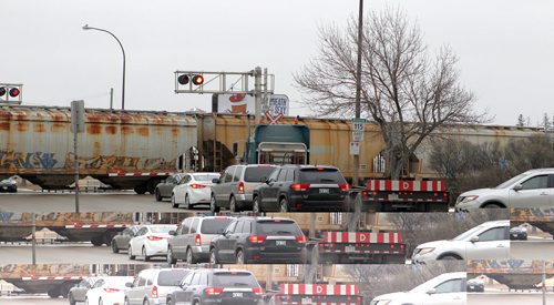
[[[554,1],[371,0],[406,10],[431,50],[450,44],[463,85],[494,124],[532,125],[554,115]],[[276,93],[305,115],[293,73],[317,52],[318,27],[345,26],[358,0],[3,0],[0,83],[23,83],[25,104],[107,108],[110,88],[121,104],[122,54],[116,41],[82,26],[103,28],[126,52],[125,109],[211,110],[207,94],[175,94],[175,70],[249,71],[276,75]]]

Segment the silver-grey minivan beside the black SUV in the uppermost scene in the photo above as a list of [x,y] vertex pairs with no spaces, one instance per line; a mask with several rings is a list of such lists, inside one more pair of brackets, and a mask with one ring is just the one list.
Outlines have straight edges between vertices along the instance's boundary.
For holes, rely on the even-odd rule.
[[254,189],[264,183],[275,167],[270,164],[228,166],[219,179],[213,181],[209,210],[216,213],[220,207],[230,212],[252,209]]

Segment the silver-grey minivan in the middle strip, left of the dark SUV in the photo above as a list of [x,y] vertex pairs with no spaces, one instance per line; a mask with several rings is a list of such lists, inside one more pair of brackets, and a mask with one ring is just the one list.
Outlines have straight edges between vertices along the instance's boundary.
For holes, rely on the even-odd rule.
[[167,263],[185,260],[188,264],[209,262],[209,242],[223,233],[235,217],[187,217],[167,240]]

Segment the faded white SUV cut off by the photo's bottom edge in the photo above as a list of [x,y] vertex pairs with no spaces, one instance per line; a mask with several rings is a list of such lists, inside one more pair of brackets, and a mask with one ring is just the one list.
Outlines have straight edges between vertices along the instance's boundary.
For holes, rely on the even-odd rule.
[[465,272],[445,273],[409,292],[377,296],[371,301],[371,305],[465,305]]

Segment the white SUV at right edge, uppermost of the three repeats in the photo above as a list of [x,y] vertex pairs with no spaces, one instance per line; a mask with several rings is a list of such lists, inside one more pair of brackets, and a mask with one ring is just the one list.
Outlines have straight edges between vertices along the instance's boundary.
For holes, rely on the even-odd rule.
[[493,189],[462,193],[456,211],[478,207],[551,207],[554,205],[554,169],[526,171]]

